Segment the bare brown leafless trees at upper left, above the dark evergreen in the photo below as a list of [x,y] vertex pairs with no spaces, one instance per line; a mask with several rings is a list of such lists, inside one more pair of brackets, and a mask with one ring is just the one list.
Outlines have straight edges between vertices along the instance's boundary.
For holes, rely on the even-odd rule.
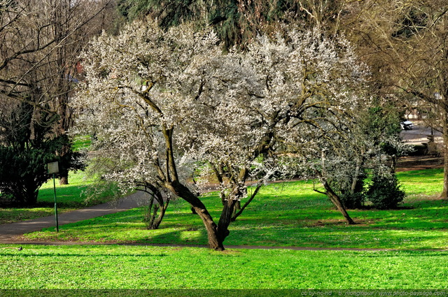
[[[61,183],[67,183],[71,140],[65,132],[73,119],[67,103],[77,81],[78,55],[102,25],[97,19],[111,1],[4,1],[0,30],[0,84],[3,100],[27,101],[36,113],[57,114],[49,133],[57,149]],[[31,117],[32,130],[37,117]],[[48,123],[47,123],[48,124]],[[62,141],[64,140],[64,141]],[[64,160],[69,160],[65,162]]]

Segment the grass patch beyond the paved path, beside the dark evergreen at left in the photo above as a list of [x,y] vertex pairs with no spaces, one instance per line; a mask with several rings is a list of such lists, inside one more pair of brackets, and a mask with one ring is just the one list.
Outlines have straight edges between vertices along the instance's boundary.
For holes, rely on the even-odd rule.
[[[69,174],[69,184],[59,185],[56,180],[57,208],[59,212],[67,212],[90,205],[104,203],[110,200],[111,191],[104,191],[97,198],[85,201],[83,191],[92,184],[92,179],[85,178],[85,173],[78,171]],[[0,224],[25,221],[37,217],[45,217],[54,213],[55,196],[53,181],[43,184],[39,189],[38,202],[34,207],[29,208],[0,208]]]

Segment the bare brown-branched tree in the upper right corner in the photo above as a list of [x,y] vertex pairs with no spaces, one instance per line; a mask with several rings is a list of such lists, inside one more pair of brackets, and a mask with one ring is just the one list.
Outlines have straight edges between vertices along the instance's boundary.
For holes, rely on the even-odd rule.
[[351,3],[356,17],[348,22],[378,92],[409,108],[435,111],[427,123],[443,134],[443,198],[448,195],[447,6],[444,0],[358,1]]

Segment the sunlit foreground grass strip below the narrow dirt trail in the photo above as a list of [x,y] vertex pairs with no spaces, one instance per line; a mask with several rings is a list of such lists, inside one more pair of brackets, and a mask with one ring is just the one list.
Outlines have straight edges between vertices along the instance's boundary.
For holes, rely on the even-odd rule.
[[26,245],[0,247],[0,287],[447,289],[447,259],[448,252],[423,251]]

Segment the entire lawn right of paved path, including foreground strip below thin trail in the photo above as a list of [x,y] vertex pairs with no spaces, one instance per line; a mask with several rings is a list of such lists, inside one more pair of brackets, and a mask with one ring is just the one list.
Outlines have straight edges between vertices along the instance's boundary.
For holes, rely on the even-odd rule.
[[[344,224],[328,198],[312,190],[312,182],[270,184],[230,226],[230,236],[225,240],[225,245],[394,250],[226,249],[214,252],[197,247],[23,245],[24,249],[18,251],[11,248],[17,245],[0,245],[0,294],[21,296],[23,293],[1,289],[82,288],[100,290],[91,294],[111,294],[104,291],[107,289],[132,289],[113,291],[108,296],[141,296],[144,292],[146,296],[303,296],[295,291],[250,290],[448,289],[448,251],[442,250],[448,242],[448,202],[436,196],[442,190],[442,171],[410,171],[399,173],[398,177],[409,195],[402,208],[349,210],[358,222],[355,226]],[[216,194],[204,198],[204,203],[217,217],[220,205]],[[54,229],[45,229],[27,234],[26,238],[30,243],[34,239],[207,243],[202,222],[197,215],[190,214],[188,204],[182,200],[169,206],[159,230],[144,228],[143,213],[144,208],[136,208],[61,226],[59,234]],[[157,289],[186,291],[152,291]],[[249,291],[244,295],[241,291],[213,289]],[[28,292],[30,296],[41,294],[35,290]],[[76,296],[86,294],[85,291],[68,292],[80,294]],[[53,293],[62,294],[61,291]]]

